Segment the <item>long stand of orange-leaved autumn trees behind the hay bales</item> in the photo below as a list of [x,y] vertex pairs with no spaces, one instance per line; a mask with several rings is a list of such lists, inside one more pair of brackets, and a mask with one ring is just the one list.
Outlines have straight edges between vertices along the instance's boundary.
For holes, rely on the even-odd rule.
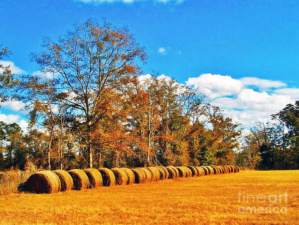
[[239,124],[197,90],[142,75],[147,54],[127,28],[88,20],[42,47],[40,74],[0,65],[1,99],[22,101],[29,123],[0,123],[0,169],[234,164]]

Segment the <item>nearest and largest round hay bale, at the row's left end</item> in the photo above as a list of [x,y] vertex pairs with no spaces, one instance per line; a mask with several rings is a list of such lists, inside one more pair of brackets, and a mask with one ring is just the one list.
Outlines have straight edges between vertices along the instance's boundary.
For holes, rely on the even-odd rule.
[[36,194],[60,192],[59,177],[52,171],[40,171],[32,174],[25,183],[26,191]]

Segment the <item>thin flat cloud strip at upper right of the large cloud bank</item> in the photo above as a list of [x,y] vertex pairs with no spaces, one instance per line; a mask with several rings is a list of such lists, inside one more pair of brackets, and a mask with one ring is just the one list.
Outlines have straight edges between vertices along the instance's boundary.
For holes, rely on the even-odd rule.
[[240,79],[240,81],[245,85],[255,85],[260,88],[279,88],[279,87],[285,87],[287,86],[286,83],[283,83],[281,81],[277,80],[266,80],[266,79],[260,79],[257,77],[243,77]]

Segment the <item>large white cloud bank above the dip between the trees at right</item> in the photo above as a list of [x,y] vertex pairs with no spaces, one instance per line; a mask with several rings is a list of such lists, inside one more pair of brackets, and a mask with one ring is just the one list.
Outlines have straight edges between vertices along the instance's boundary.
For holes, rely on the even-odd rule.
[[[219,74],[201,74],[189,78],[186,85],[197,88],[243,127],[255,122],[266,122],[271,115],[287,104],[299,100],[299,88],[288,88],[286,83],[257,77],[234,79]],[[257,86],[260,91],[248,88]]]

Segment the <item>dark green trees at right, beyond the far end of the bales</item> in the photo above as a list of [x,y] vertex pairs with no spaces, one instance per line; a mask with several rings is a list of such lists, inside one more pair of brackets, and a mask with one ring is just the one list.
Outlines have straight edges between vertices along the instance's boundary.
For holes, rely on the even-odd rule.
[[251,129],[238,163],[253,169],[299,169],[299,101]]

